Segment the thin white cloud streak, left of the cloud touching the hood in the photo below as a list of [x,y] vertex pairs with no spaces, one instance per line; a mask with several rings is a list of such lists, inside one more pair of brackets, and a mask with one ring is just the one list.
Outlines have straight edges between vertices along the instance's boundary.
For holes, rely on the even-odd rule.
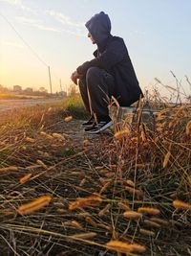
[[15,19],[18,20],[19,22],[23,23],[23,24],[32,26],[32,27],[37,28],[37,29],[42,30],[42,31],[52,31],[52,32],[58,32],[58,33],[61,32],[60,29],[45,26],[42,23],[42,20],[40,20],[40,19],[31,19],[31,18],[26,18],[26,17],[23,17],[23,16],[17,16],[17,17],[15,17]]

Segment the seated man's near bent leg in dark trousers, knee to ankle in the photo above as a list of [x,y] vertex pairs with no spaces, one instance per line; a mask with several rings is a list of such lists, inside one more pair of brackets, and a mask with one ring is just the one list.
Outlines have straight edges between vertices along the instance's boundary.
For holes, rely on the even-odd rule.
[[114,94],[114,78],[103,69],[91,67],[86,74],[93,112],[98,121],[109,119],[108,104]]

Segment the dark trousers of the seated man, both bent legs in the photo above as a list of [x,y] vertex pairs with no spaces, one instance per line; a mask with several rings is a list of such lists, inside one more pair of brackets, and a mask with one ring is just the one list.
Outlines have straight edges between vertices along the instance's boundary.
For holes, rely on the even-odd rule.
[[97,117],[108,116],[109,100],[114,95],[115,82],[105,70],[91,67],[79,80],[79,90],[86,109]]

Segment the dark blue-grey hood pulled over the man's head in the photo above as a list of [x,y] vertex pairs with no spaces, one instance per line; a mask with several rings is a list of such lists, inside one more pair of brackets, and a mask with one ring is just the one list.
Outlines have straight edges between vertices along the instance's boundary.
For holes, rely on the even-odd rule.
[[85,26],[90,34],[93,35],[97,45],[103,43],[111,32],[111,21],[105,12],[99,12],[94,15]]

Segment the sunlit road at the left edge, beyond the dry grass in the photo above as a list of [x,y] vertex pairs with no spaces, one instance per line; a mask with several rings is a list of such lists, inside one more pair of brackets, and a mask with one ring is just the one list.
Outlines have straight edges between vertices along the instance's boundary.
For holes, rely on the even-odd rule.
[[61,102],[61,98],[51,98],[51,99],[29,99],[29,100],[0,100],[0,112],[9,111],[15,108],[32,106],[32,105],[42,105],[47,103]]

